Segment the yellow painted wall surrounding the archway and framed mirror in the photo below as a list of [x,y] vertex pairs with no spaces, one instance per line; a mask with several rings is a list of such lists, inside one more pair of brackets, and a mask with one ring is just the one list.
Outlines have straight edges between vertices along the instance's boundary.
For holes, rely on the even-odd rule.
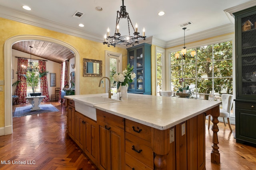
[[[119,47],[108,47],[107,45],[103,45],[103,43],[90,41],[80,37],[75,37],[72,35],[67,35],[64,33],[59,33],[56,31],[19,23],[17,21],[7,20],[4,18],[0,18],[0,23],[0,80],[4,80],[4,43],[7,39],[17,35],[39,35],[64,41],[65,43],[73,46],[78,51],[80,55],[80,68],[83,68],[83,58],[102,60],[103,76],[105,75],[105,50],[122,53],[122,67],[126,67],[126,49]],[[98,87],[100,77],[83,77],[82,69],[80,69],[79,71],[80,94],[104,93],[104,88]],[[4,92],[0,92],[0,108],[4,108],[5,106],[4,95]],[[0,127],[4,127],[4,111],[0,112]]]

